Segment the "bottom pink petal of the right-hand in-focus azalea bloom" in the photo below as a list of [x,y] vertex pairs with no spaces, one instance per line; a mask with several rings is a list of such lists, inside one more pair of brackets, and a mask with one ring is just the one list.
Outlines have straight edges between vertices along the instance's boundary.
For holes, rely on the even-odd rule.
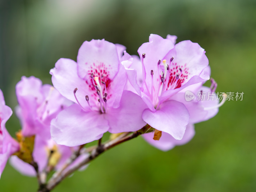
[[142,118],[151,127],[167,132],[175,139],[181,140],[188,124],[189,113],[183,103],[170,100],[164,102],[155,112],[146,109]]

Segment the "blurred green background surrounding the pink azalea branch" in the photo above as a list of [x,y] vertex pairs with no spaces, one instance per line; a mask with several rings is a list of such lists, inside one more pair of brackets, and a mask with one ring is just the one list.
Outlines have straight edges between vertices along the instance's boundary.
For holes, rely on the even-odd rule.
[[[206,51],[217,92],[244,92],[191,142],[162,152],[141,137],[111,149],[53,191],[256,191],[256,1],[0,0],[0,88],[17,105],[15,84],[36,76],[51,83],[61,58],[76,60],[85,40],[124,44],[137,54],[150,33],[191,40]],[[207,84],[209,85],[209,83]],[[6,127],[20,129],[15,115]],[[9,164],[0,191],[36,191],[35,178]]]

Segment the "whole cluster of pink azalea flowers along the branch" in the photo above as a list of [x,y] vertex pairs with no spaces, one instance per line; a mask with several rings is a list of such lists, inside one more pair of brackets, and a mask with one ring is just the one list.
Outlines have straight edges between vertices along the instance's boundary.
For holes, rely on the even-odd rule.
[[[16,85],[22,127],[16,139],[5,128],[12,110],[0,92],[0,176],[11,157],[13,167],[42,183],[45,178],[38,174],[55,170],[54,181],[79,162],[89,162],[84,144],[99,140],[102,146],[106,132],[122,141],[132,132],[143,134],[164,151],[191,140],[194,124],[215,116],[223,102],[216,99],[214,80],[210,88],[203,86],[210,79],[204,49],[176,39],[151,34],[139,57],[104,39],[85,41],[76,61],[61,58],[50,70],[53,86],[22,77]],[[188,90],[215,99],[187,101]],[[116,143],[98,147],[89,159]]]

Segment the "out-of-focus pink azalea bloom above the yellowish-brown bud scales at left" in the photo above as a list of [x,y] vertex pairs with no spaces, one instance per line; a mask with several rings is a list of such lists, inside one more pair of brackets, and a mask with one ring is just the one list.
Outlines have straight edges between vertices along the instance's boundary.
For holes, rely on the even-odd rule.
[[51,120],[63,108],[72,104],[54,87],[42,85],[42,81],[34,76],[21,77],[16,85],[16,95],[19,103],[16,114],[25,137],[40,134],[41,137],[50,139]]

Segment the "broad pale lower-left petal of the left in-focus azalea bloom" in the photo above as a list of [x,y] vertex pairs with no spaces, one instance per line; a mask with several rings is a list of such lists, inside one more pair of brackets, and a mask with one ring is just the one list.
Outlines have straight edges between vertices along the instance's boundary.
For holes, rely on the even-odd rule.
[[57,144],[73,147],[100,139],[108,128],[102,114],[85,112],[73,104],[52,120],[51,135]]

